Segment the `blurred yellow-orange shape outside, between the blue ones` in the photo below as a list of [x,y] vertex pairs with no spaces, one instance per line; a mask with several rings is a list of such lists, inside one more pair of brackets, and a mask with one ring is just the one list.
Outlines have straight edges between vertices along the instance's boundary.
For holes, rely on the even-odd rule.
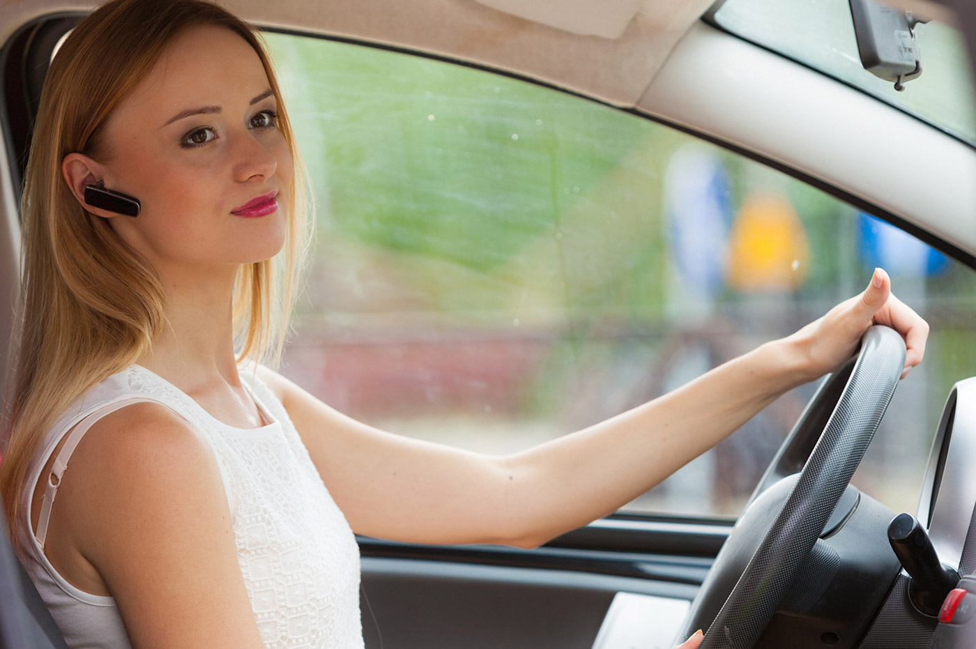
[[739,291],[789,291],[806,276],[806,231],[780,194],[756,193],[743,201],[728,248],[728,283]]

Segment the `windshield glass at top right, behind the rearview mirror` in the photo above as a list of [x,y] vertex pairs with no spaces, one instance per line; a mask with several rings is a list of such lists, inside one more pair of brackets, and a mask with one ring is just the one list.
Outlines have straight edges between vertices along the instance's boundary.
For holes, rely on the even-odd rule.
[[931,20],[915,27],[922,73],[899,92],[861,64],[848,0],[727,0],[714,20],[976,144],[976,92],[965,43],[946,24]]

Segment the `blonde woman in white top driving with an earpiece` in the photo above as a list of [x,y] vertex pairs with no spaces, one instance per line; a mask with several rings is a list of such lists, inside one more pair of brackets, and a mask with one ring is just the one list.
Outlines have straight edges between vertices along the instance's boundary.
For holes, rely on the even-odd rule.
[[261,43],[216,6],[114,0],[52,62],[0,487],[69,646],[362,646],[353,531],[533,548],[833,370],[874,322],[905,338],[906,372],[922,357],[927,325],[877,270],[793,336],[522,453],[390,435],[257,365],[305,249],[302,169]]

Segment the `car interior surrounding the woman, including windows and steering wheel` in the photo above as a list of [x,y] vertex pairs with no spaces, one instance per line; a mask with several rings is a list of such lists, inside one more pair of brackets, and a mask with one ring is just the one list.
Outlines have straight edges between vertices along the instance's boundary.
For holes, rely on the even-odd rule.
[[[0,0],[0,341],[47,65],[97,4]],[[874,327],[540,548],[357,537],[367,647],[976,647],[972,3],[221,4],[263,30],[318,201],[281,372],[357,419],[513,452],[789,334],[877,265],[932,328],[901,382]],[[4,533],[15,647],[66,644]]]

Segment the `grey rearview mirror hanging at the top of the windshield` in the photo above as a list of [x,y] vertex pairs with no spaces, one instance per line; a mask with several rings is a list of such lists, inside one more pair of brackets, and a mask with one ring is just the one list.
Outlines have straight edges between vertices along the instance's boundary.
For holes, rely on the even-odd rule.
[[911,13],[892,9],[875,0],[849,0],[854,35],[864,68],[895,90],[921,74],[921,53],[915,39],[919,20]]

